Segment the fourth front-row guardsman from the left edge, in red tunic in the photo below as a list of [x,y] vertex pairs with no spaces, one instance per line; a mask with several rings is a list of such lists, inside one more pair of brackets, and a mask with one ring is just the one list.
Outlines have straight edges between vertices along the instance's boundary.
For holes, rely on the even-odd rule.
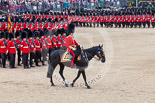
[[30,49],[30,67],[34,67],[33,63],[35,60],[35,43],[34,43],[34,35],[32,33],[32,31],[28,32],[28,42],[31,44],[29,45],[29,49]]

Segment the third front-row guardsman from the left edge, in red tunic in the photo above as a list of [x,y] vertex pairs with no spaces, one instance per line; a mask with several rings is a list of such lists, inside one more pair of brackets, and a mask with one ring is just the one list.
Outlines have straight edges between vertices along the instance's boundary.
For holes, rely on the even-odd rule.
[[22,42],[20,44],[20,50],[21,50],[21,54],[22,54],[22,60],[23,60],[24,69],[29,68],[29,65],[28,65],[28,55],[30,53],[29,45],[28,45],[28,43],[26,41],[26,38],[27,38],[27,33],[25,31],[23,31],[22,34],[21,34]]

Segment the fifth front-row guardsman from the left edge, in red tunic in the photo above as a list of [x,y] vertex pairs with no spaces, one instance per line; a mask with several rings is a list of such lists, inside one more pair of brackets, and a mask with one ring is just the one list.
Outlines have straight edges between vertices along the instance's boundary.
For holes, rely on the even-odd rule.
[[36,63],[36,66],[40,66],[38,63],[39,63],[39,60],[41,58],[41,45],[40,45],[40,40],[39,40],[39,37],[40,37],[40,32],[39,31],[35,31],[35,36],[36,36],[36,39],[34,41],[35,43],[35,46],[36,46],[36,57],[35,57],[35,63]]

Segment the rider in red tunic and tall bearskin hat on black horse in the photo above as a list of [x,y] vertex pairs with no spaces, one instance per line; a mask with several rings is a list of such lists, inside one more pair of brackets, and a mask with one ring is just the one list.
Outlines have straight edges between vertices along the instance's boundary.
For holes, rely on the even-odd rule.
[[65,39],[65,43],[63,44],[64,47],[67,47],[68,52],[70,52],[73,56],[72,58],[72,63],[71,63],[71,68],[76,68],[76,60],[77,60],[77,56],[79,55],[78,52],[76,51],[76,46],[78,46],[78,43],[76,42],[76,40],[73,37],[73,33],[74,33],[74,24],[70,24],[68,26],[68,33],[67,33],[67,37]]

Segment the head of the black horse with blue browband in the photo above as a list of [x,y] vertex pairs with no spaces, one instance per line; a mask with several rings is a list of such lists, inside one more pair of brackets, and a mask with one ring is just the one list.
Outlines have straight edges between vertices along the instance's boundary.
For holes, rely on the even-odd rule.
[[104,55],[104,51],[103,51],[103,45],[99,45],[96,51],[96,56],[99,58],[99,60],[101,60],[102,63],[105,62],[105,55]]

